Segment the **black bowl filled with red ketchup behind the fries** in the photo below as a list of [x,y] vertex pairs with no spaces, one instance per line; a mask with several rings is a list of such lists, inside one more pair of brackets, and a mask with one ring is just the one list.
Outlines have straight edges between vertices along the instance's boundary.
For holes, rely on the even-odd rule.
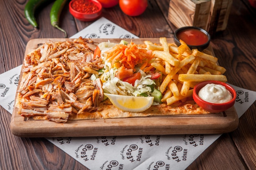
[[186,42],[190,49],[198,49],[202,51],[206,49],[211,41],[211,35],[196,26],[184,26],[177,29],[174,33],[174,42],[180,46],[180,40]]

